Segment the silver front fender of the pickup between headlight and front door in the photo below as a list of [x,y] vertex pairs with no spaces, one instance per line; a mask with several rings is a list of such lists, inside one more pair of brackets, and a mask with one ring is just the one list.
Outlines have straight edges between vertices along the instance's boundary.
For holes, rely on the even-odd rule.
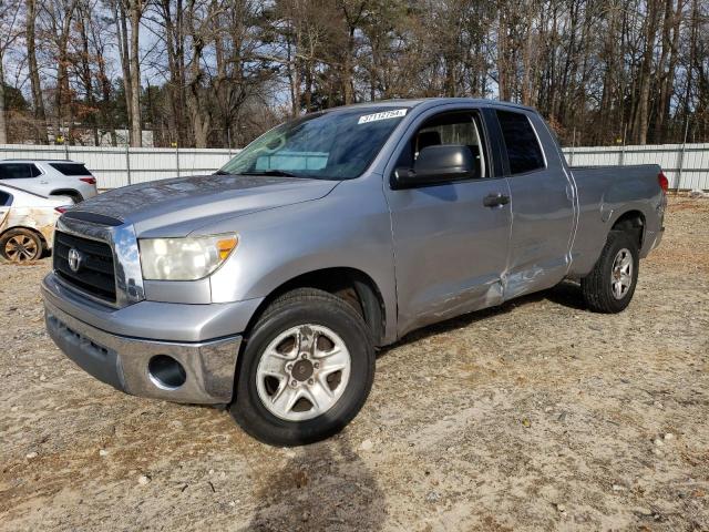
[[381,177],[347,181],[327,196],[215,224],[239,235],[236,252],[210,279],[214,303],[264,298],[285,283],[323,268],[347,267],[377,285],[395,331],[391,223]]

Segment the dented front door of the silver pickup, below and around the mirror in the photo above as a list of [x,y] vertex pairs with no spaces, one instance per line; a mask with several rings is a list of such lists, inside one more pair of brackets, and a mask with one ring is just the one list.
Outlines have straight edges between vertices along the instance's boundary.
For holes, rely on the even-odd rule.
[[458,144],[473,153],[475,175],[407,190],[384,184],[394,242],[400,335],[502,300],[510,205],[490,198],[508,197],[510,191],[491,164],[486,139],[476,110],[423,117],[399,154],[397,167],[412,167],[425,146]]

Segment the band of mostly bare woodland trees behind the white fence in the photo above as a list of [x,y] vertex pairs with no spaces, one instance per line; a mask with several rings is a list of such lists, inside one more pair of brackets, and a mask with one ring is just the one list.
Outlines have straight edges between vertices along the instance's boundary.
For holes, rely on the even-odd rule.
[[49,116],[78,142],[125,124],[132,145],[145,126],[230,146],[304,111],[438,95],[534,105],[563,142],[709,139],[706,0],[0,0],[18,1],[3,66],[40,141]]

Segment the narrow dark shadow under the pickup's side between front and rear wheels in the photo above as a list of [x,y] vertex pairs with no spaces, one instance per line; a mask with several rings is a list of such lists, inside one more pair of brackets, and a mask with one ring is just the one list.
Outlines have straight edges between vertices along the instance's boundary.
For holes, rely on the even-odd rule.
[[547,290],[536,291],[527,296],[522,296],[510,301],[506,301],[496,307],[484,308],[473,313],[456,316],[445,321],[429,325],[421,329],[412,330],[408,332],[403,338],[399,339],[394,344],[383,347],[377,354],[378,357],[386,355],[389,350],[400,346],[405,346],[418,340],[429,338],[442,332],[449,332],[451,330],[460,329],[476,324],[477,321],[484,321],[485,319],[507,314],[517,307],[538,303],[546,299],[564,307],[573,308],[575,310],[587,310],[587,306],[583,300],[580,294],[580,286],[578,283],[572,280],[563,280],[558,285]]

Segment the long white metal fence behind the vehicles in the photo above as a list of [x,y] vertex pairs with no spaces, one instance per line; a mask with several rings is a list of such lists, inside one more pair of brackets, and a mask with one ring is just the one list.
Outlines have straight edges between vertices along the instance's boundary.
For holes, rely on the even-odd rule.
[[[99,181],[99,188],[179,175],[214,172],[238,150],[173,150],[157,147],[84,147],[0,144],[2,158],[71,158],[81,161]],[[567,147],[569,164],[659,164],[671,188],[709,190],[709,144]]]

